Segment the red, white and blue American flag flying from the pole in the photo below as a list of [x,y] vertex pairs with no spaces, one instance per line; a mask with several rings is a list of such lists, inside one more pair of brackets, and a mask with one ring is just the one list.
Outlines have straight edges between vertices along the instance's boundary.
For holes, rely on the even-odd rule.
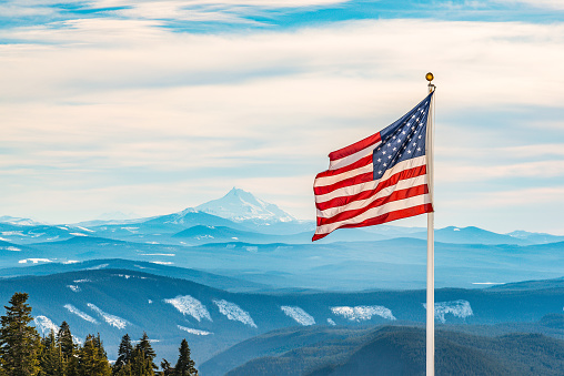
[[329,154],[313,183],[318,227],[363,227],[433,212],[429,194],[426,124],[433,92],[382,131]]

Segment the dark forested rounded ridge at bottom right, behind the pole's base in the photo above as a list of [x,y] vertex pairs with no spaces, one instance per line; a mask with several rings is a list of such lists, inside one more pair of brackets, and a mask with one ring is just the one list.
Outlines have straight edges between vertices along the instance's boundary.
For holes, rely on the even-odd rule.
[[[564,341],[541,334],[484,337],[437,331],[435,346],[436,375],[564,374]],[[254,358],[226,375],[423,376],[425,331],[405,326],[365,329],[344,341],[321,339],[280,355]]]

